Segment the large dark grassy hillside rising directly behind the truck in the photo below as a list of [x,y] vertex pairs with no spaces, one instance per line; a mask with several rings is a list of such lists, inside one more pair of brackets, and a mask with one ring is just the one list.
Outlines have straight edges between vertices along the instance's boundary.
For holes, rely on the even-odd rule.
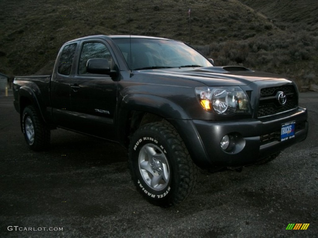
[[[252,7],[249,1],[195,1],[190,4],[189,34],[189,2],[184,0],[2,0],[0,72],[10,76],[47,74],[64,42],[87,35],[131,32],[191,40],[192,45],[205,46],[206,55],[218,65],[240,64],[287,73],[300,81],[308,75],[315,79],[315,32],[291,34],[266,17],[267,12]],[[305,20],[301,23],[307,24]],[[302,75],[297,68],[300,61],[304,64]]]

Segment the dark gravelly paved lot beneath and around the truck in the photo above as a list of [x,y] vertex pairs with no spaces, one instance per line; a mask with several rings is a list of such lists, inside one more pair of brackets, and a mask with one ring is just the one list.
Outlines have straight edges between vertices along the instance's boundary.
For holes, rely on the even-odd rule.
[[58,129],[49,151],[29,150],[12,100],[0,96],[0,237],[318,237],[318,93],[301,94],[306,141],[240,173],[202,170],[166,209],[137,193],[116,144]]

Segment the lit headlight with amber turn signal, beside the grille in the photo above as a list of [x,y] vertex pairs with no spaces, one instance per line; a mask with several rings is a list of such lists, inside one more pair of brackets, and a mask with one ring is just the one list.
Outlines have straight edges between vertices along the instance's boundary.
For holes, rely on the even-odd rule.
[[201,106],[217,114],[231,115],[250,112],[249,102],[244,91],[238,87],[196,87]]

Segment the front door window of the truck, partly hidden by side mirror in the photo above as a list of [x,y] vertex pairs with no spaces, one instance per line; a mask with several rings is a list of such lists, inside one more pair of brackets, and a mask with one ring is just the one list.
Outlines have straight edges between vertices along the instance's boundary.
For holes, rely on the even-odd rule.
[[83,45],[83,49],[79,58],[79,75],[89,74],[86,71],[86,63],[87,60],[93,58],[107,59],[109,65],[112,65],[112,56],[106,45],[100,42],[86,42]]

